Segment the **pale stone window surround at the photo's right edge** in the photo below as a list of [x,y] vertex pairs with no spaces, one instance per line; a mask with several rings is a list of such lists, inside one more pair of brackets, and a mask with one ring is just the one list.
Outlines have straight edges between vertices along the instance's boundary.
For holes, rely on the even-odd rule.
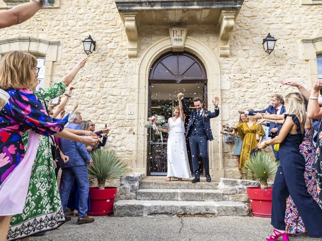
[[318,77],[316,57],[322,55],[322,37],[303,39],[302,43],[304,60],[308,61],[309,86],[312,87]]

